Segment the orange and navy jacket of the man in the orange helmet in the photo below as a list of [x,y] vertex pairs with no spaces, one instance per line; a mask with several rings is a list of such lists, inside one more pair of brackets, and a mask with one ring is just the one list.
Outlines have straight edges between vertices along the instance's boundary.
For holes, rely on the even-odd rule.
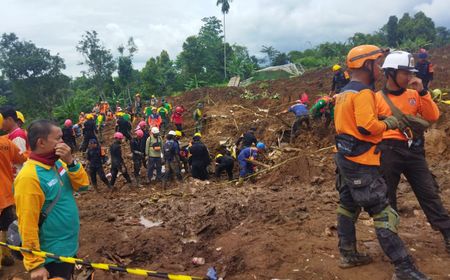
[[351,81],[336,96],[334,110],[338,135],[350,135],[359,141],[373,144],[366,152],[346,158],[359,164],[380,165],[380,154],[375,152],[375,145],[382,140],[386,124],[378,120],[374,92],[360,82]]

